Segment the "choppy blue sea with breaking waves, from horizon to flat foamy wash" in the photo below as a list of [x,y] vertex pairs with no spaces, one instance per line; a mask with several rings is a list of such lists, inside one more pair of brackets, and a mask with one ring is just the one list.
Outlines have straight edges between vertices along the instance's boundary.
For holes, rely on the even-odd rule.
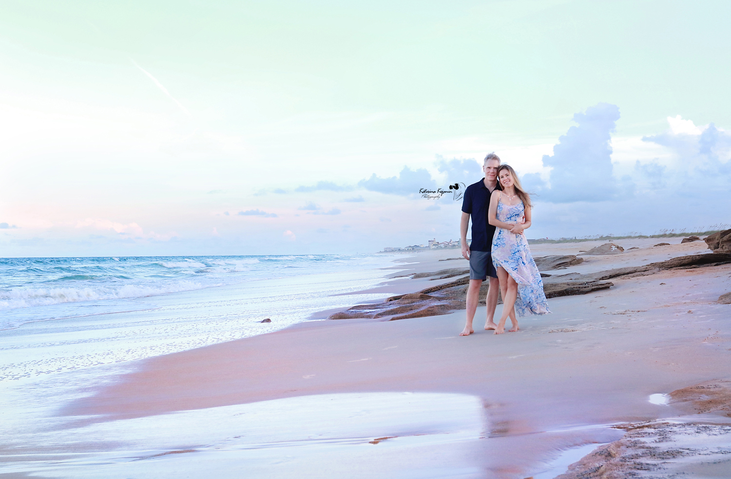
[[313,254],[0,258],[0,310],[139,298],[254,279],[330,273],[360,268],[371,261],[360,258]]

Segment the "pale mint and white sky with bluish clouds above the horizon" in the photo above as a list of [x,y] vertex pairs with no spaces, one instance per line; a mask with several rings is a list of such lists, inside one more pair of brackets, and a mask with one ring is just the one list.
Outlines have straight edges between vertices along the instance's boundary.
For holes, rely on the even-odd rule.
[[491,151],[534,193],[529,238],[730,227],[727,18],[726,1],[4,1],[0,257],[456,240],[449,186]]

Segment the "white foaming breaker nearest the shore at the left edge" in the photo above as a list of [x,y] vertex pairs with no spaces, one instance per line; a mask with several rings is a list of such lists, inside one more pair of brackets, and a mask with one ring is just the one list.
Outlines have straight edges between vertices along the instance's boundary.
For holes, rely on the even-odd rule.
[[[217,285],[217,284],[216,284]],[[208,286],[213,286],[209,284]],[[49,304],[75,303],[105,299],[143,298],[179,291],[201,290],[207,287],[198,282],[180,281],[159,286],[125,284],[113,287],[53,287],[0,290],[0,309],[29,308]]]

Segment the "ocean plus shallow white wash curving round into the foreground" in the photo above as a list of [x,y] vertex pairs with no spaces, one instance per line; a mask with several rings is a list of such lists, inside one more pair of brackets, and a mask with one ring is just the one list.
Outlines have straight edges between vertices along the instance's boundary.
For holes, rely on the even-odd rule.
[[[112,421],[63,412],[144,358],[383,298],[357,292],[405,260],[398,253],[1,259],[0,475],[365,478],[382,464],[389,477],[437,477],[434,467],[439,477],[478,477],[464,455],[485,427],[482,403],[461,394],[298,396]],[[272,360],[276,351],[262,358]],[[430,434],[414,436],[420,428]],[[383,436],[404,437],[373,448],[373,437]],[[415,472],[425,456],[435,464]]]

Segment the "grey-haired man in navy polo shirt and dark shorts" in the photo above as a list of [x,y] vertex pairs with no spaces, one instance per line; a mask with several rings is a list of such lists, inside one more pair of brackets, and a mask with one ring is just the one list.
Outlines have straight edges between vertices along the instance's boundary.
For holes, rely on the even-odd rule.
[[[472,320],[474,312],[477,310],[477,303],[480,302],[480,287],[488,276],[490,290],[488,290],[488,318],[485,322],[485,329],[497,328],[493,316],[498,304],[500,283],[490,254],[495,227],[488,222],[488,206],[490,205],[490,195],[495,189],[500,189],[497,178],[499,166],[499,156],[494,153],[485,156],[485,160],[482,162],[485,178],[467,186],[464,192],[460,234],[462,256],[469,260],[469,288],[467,290],[467,323],[460,336],[469,336],[474,333]],[[472,243],[467,246],[467,226],[470,217],[472,219]]]

